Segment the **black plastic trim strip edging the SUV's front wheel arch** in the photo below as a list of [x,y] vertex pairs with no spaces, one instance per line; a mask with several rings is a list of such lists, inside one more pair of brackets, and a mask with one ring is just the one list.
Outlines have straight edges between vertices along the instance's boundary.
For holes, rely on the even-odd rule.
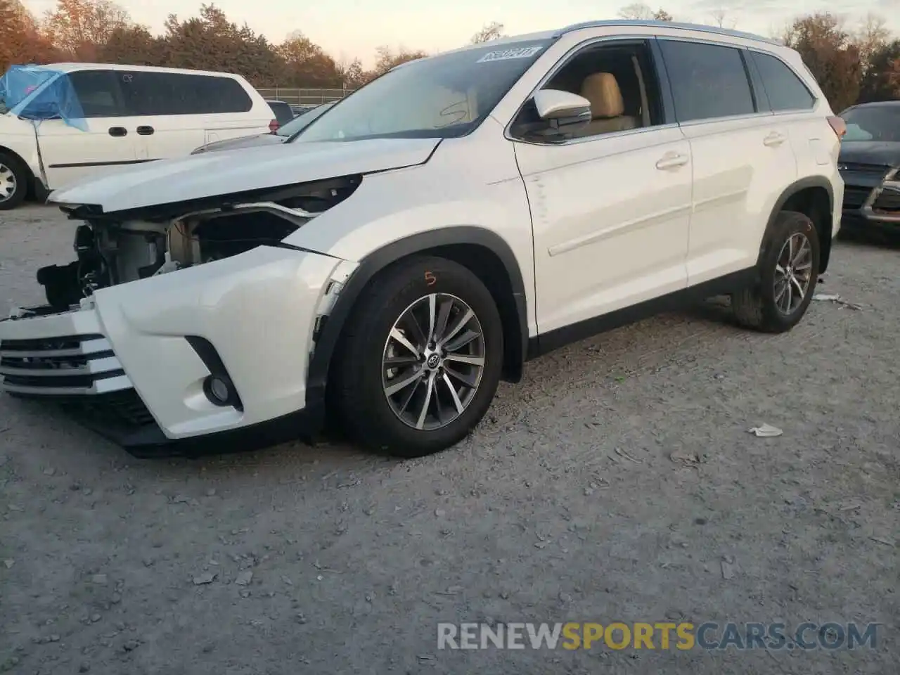
[[[347,279],[344,288],[338,293],[338,299],[324,323],[320,325],[319,333],[315,339],[309,373],[306,383],[307,405],[319,405],[325,398],[325,389],[329,379],[329,366],[335,356],[338,340],[345,323],[350,317],[356,305],[356,300],[363,293],[365,287],[387,266],[402,258],[424,253],[430,249],[443,246],[472,245],[485,247],[497,256],[502,262],[509,284],[512,288],[513,301],[518,314],[518,329],[521,345],[518,355],[515,356],[518,373],[513,374],[513,379],[521,374],[522,364],[525,362],[528,344],[528,312],[525,282],[522,271],[518,266],[518,260],[509,244],[492,232],[478,226],[456,225],[441,229],[432,229],[419,234],[410,235],[393,241],[386,246],[376,249],[367,255]],[[506,357],[505,357],[506,358]]]

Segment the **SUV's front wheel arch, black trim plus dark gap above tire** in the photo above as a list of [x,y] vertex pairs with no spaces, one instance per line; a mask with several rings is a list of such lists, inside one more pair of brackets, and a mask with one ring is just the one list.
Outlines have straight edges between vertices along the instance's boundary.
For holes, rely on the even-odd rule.
[[490,229],[459,225],[398,239],[377,248],[360,261],[338,294],[328,319],[320,327],[307,377],[308,405],[324,400],[331,362],[347,320],[365,287],[384,270],[417,255],[446,257],[482,279],[497,302],[503,322],[503,378],[508,382],[521,379],[527,353],[528,315],[525,282],[516,255],[509,244]]

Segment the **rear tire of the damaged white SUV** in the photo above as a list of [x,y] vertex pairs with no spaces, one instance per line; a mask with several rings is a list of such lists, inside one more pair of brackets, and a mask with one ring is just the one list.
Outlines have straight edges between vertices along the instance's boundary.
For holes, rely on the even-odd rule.
[[[819,279],[819,235],[813,221],[803,213],[781,211],[766,239],[758,265],[760,283],[734,293],[732,309],[734,318],[746,328],[784,333],[797,325],[813,300]],[[795,266],[784,266],[791,247],[794,247]],[[780,270],[787,270],[792,276],[786,277]],[[794,281],[786,282],[787,278]],[[788,290],[784,290],[786,284],[789,297]],[[803,294],[797,302],[797,292],[801,290]]]

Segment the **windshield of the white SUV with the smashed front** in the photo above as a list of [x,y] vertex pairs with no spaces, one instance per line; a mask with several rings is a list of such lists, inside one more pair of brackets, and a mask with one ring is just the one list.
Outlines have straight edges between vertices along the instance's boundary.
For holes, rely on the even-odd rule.
[[347,96],[292,142],[464,136],[551,41],[508,42],[410,61]]

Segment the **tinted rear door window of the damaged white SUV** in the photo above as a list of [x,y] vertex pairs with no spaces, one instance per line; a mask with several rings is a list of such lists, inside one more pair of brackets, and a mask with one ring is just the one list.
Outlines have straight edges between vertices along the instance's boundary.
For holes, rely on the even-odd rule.
[[738,49],[660,40],[678,121],[712,120],[756,112]]

